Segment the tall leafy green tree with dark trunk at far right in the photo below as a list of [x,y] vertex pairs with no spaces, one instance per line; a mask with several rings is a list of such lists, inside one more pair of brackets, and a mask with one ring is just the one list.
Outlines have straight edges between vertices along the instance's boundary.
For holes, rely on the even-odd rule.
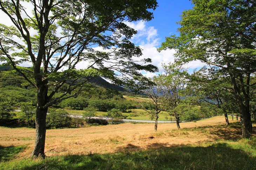
[[229,76],[231,93],[243,116],[243,138],[250,138],[251,76],[256,71],[256,3],[254,0],[193,0],[179,22],[179,36],[170,36],[159,50],[176,49],[177,60],[200,60]]

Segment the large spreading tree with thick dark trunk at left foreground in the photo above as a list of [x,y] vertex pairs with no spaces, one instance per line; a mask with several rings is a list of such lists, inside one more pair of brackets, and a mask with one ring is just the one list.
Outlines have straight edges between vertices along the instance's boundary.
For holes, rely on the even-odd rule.
[[[0,0],[13,24],[0,24],[0,60],[37,89],[33,157],[45,157],[48,107],[78,94],[88,79],[102,76],[132,90],[149,83],[143,79],[135,86],[142,80],[138,71],[157,68],[146,65],[150,59],[140,60],[144,64],[134,60],[142,52],[129,41],[136,31],[125,21],[149,21],[153,14],[148,9],[156,7],[156,0]],[[26,61],[31,68],[18,66]],[[80,62],[83,69],[78,70]],[[80,77],[87,79],[80,82]],[[56,96],[67,80],[65,92]]]

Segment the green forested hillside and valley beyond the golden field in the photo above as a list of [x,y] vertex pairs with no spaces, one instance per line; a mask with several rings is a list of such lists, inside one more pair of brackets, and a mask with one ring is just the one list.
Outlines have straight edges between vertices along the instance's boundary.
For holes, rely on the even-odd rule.
[[[16,118],[19,126],[35,127],[35,106],[36,106],[36,89],[17,74],[10,72],[10,67],[0,67],[0,101],[1,101],[1,124],[8,125]],[[5,72],[8,71],[8,72]],[[113,118],[126,119],[144,119],[153,120],[154,114],[141,109],[153,110],[154,104],[147,96],[135,96],[128,90],[113,86],[104,87],[102,84],[107,83],[101,78],[91,79],[84,91],[75,97],[66,98],[49,108],[47,115],[47,127],[77,127],[79,124],[93,123],[106,124],[104,122],[94,121],[93,119],[70,118],[69,113],[80,114],[85,117],[91,116],[108,116]],[[101,85],[101,86],[100,86]],[[64,85],[62,88],[68,86]],[[114,87],[111,89],[109,87]],[[63,93],[62,88],[58,90],[58,95]],[[87,89],[90,89],[88,93]],[[121,89],[123,91],[118,91]],[[125,95],[125,97],[124,97]],[[67,95],[69,96],[69,95]],[[133,96],[133,97],[132,97]],[[15,108],[21,108],[22,112],[17,115],[12,112]],[[184,112],[180,115],[181,121],[195,120],[198,118],[222,114],[220,109],[206,102],[197,102],[192,108],[194,111]],[[172,120],[175,118],[168,112],[168,106],[165,106],[160,113],[160,120]],[[5,110],[5,112],[4,112]],[[77,110],[77,111],[76,111]],[[93,110],[93,112],[92,112]],[[193,109],[192,109],[193,110]],[[69,113],[68,113],[69,112]],[[15,120],[15,119],[14,119]]]

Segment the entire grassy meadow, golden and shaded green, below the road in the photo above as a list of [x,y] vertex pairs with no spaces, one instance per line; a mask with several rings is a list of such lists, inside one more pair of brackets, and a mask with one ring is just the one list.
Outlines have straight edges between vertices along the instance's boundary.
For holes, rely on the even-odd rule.
[[[46,131],[45,160],[32,160],[35,129],[0,127],[0,169],[256,169],[256,135],[224,116],[197,122],[92,126]],[[253,124],[256,128],[255,123]]]

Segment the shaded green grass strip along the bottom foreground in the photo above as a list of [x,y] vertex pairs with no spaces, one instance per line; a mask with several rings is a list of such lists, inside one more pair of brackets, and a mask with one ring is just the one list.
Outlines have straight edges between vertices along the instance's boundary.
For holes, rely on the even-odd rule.
[[[113,154],[65,155],[45,160],[5,161],[0,169],[13,170],[252,170],[256,169],[256,139],[222,141],[165,147],[161,149],[125,151]],[[14,147],[15,148],[15,147]]]

